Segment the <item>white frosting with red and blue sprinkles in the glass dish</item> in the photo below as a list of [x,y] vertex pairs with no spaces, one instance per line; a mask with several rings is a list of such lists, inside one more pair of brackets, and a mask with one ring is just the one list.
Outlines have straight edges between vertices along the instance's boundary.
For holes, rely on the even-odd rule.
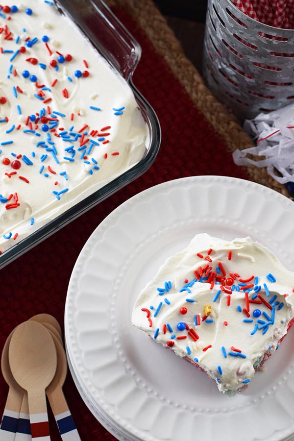
[[[132,90],[69,18],[43,0],[5,4],[16,5],[18,11],[0,11],[0,251],[125,172],[143,157],[147,144],[147,126]],[[49,37],[49,49],[44,36]],[[27,38],[38,41],[28,47]],[[25,53],[17,52],[22,47]],[[60,62],[56,51],[73,59]],[[58,70],[50,66],[52,60]],[[76,71],[89,75],[77,77]],[[34,117],[31,126],[26,125],[27,117],[38,118],[43,108],[45,117],[57,120],[45,120],[47,132],[44,122],[36,124]],[[17,159],[12,153],[22,155],[20,169],[12,167]],[[7,165],[5,158],[10,160]],[[9,208],[15,202],[17,206]]]

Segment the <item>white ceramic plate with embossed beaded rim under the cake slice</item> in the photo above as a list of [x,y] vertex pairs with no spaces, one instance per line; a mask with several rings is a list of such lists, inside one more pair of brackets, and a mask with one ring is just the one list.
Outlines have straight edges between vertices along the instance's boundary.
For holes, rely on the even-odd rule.
[[131,325],[141,289],[199,232],[249,235],[294,269],[294,203],[266,187],[196,176],[132,197],[91,235],[70,280],[65,332],[82,396],[121,440],[284,440],[294,432],[294,328],[266,371],[229,398]]

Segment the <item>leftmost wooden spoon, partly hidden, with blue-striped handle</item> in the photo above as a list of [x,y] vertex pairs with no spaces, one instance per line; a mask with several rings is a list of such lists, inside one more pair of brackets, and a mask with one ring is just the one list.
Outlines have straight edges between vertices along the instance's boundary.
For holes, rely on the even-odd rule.
[[13,441],[17,430],[17,424],[20,417],[21,405],[24,397],[24,389],[21,388],[10,370],[8,360],[8,349],[11,337],[14,331],[12,331],[4,344],[1,355],[1,370],[4,380],[9,386],[5,409],[3,412],[2,422],[0,426],[0,439]]

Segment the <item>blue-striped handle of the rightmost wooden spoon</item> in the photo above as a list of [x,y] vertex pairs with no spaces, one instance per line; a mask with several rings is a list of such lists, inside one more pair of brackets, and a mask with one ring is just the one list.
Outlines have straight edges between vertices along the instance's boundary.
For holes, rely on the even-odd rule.
[[47,393],[63,441],[81,441],[62,388]]

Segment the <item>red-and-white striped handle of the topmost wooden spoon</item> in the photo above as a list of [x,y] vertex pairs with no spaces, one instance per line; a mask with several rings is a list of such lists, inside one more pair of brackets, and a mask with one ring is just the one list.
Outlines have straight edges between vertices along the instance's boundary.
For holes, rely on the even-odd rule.
[[45,391],[28,391],[27,399],[32,440],[50,441]]

